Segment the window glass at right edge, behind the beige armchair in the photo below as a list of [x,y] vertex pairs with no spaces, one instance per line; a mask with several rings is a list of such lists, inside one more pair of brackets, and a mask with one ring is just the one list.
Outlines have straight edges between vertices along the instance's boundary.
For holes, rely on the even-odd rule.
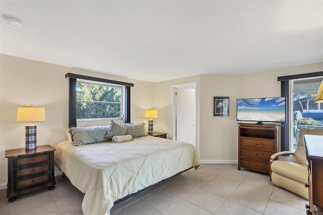
[[298,134],[301,128],[323,127],[323,103],[313,102],[322,78],[301,78],[291,80],[293,98],[291,110],[291,150],[295,150],[298,143]]

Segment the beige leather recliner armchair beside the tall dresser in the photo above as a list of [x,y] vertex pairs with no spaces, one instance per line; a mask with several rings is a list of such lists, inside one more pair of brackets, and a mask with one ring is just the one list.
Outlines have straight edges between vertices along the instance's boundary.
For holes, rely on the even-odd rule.
[[[304,134],[323,135],[323,128],[302,128],[298,136],[298,144],[295,152],[280,151],[271,156],[270,159],[270,180],[277,186],[285,188],[308,199],[307,159],[304,147]],[[278,160],[280,155],[293,155],[290,161]]]

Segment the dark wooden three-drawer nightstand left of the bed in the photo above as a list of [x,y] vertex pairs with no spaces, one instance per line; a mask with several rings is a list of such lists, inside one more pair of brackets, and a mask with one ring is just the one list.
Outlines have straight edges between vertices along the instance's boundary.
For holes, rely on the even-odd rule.
[[34,150],[25,148],[6,151],[8,158],[7,198],[48,187],[55,188],[54,151],[50,145],[40,145]]

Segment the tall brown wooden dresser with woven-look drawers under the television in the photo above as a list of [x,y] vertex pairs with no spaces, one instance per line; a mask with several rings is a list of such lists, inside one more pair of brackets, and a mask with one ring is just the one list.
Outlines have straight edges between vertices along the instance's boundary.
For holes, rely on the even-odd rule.
[[278,148],[277,125],[239,125],[238,170],[245,168],[269,174],[271,155]]

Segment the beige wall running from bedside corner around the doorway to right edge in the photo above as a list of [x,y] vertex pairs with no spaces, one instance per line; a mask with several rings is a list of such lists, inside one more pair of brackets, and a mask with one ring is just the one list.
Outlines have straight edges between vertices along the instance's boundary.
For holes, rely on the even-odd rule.
[[[172,138],[172,86],[197,82],[197,149],[204,163],[236,162],[238,159],[237,98],[281,95],[279,76],[323,71],[323,63],[302,65],[244,75],[199,75],[154,85],[158,119],[154,130]],[[213,117],[213,96],[229,96],[229,117]],[[163,117],[159,117],[159,112]]]

